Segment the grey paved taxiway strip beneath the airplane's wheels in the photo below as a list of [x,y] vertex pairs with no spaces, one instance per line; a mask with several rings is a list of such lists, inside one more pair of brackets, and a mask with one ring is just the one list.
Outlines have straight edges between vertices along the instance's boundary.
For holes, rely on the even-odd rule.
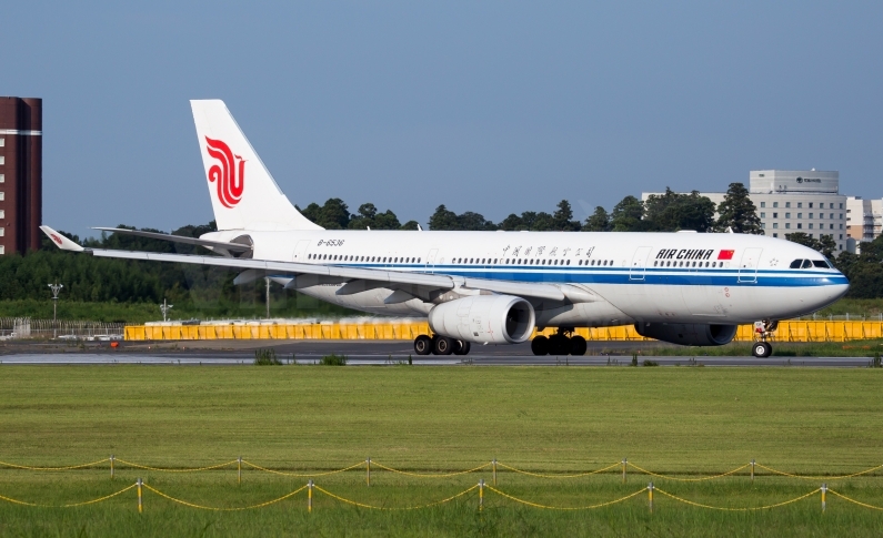
[[[86,348],[71,348],[52,344],[17,345],[2,349],[0,365],[251,365],[254,349],[273,348],[285,364],[315,364],[329,354],[345,355],[349,366],[629,366],[632,353],[638,363],[644,361],[660,366],[807,366],[807,367],[867,367],[867,357],[777,357],[754,358],[702,356],[684,348],[682,356],[656,356],[652,351],[659,344],[635,342],[590,343],[589,352],[581,357],[538,357],[529,344],[515,346],[473,346],[465,356],[420,356],[412,344],[403,341],[208,341],[177,343],[123,343],[119,349],[107,344]],[[696,349],[701,352],[701,349]]]

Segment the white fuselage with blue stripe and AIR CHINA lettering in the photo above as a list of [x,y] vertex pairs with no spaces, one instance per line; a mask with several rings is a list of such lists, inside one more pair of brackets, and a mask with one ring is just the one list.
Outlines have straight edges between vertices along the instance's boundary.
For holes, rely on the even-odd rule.
[[[241,235],[251,237],[255,260],[560,286],[565,301],[530,300],[541,327],[785,319],[833,303],[849,287],[816,251],[762,235],[329,230],[225,231],[203,238]],[[815,264],[792,268],[796,260]],[[341,295],[342,280],[271,277],[333,304],[395,316],[427,315],[473,293],[390,302],[390,288]]]

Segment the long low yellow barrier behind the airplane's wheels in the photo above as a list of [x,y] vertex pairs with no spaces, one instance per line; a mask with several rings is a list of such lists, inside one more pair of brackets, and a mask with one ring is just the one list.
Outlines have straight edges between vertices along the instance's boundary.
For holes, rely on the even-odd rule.
[[[411,341],[432,334],[427,322],[378,324],[274,324],[274,325],[129,325],[127,341],[202,341],[202,339],[399,339]],[[552,335],[554,328],[534,331]],[[576,334],[595,342],[652,341],[638,334],[632,325],[580,327]],[[849,342],[883,338],[883,322],[781,322],[774,342]],[[740,325],[734,342],[753,342],[754,327]]]

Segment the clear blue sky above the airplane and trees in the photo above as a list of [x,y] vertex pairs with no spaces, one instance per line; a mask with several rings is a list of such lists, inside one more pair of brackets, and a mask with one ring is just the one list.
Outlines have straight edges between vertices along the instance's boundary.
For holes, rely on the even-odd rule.
[[0,94],[43,98],[43,221],[212,219],[189,99],[292,202],[425,223],[839,170],[883,196],[880,2],[12,2]]

